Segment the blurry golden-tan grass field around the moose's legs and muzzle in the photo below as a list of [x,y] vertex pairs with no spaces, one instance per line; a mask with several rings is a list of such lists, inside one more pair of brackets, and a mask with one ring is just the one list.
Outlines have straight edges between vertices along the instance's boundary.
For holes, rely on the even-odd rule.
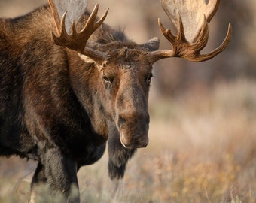
[[[105,154],[78,172],[82,202],[256,202],[256,82],[151,98],[150,114],[150,144],[131,159],[116,194]],[[1,203],[27,201],[33,168],[0,159]]]

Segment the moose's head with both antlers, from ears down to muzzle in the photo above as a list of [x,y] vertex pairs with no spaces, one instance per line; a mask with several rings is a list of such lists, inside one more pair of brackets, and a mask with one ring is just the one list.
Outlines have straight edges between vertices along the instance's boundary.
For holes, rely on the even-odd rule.
[[211,53],[200,54],[208,41],[209,22],[218,9],[219,0],[211,0],[207,5],[205,0],[161,0],[164,11],[178,30],[175,36],[158,20],[160,30],[170,41],[172,50],[158,50],[158,38],[145,44],[131,41],[101,44],[90,41],[108,11],[96,21],[99,8],[96,5],[84,27],[77,31],[78,20],[87,8],[86,1],[76,1],[75,7],[65,1],[49,2],[56,23],[53,42],[75,50],[84,62],[92,62],[97,68],[104,86],[101,93],[105,109],[120,133],[121,144],[127,148],[146,147],[148,144],[148,91],[154,62],[170,57],[181,57],[192,62],[206,61],[221,53],[231,37],[229,25],[224,42]]

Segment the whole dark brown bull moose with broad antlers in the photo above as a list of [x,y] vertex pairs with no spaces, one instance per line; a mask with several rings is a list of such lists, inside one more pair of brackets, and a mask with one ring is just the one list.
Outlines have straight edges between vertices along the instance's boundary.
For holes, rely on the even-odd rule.
[[[126,163],[148,144],[148,92],[152,65],[181,57],[202,62],[230,41],[200,54],[219,0],[161,0],[178,30],[158,21],[172,45],[159,39],[136,44],[90,13],[87,1],[49,0],[49,5],[14,19],[0,19],[0,156],[38,162],[30,202],[39,183],[69,198],[77,171],[99,160],[108,143],[108,174],[123,177]],[[79,197],[70,199],[79,202]]]

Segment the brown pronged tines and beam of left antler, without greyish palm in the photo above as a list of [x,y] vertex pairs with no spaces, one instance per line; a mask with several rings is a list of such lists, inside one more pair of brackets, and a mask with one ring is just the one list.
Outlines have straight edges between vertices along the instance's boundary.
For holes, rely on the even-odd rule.
[[56,14],[56,8],[55,6],[52,7],[53,11],[53,17],[56,23],[56,29],[58,32],[58,36],[56,36],[52,32],[52,39],[53,42],[56,45],[68,47],[71,50],[78,51],[78,53],[81,53],[83,55],[89,56],[90,58],[96,60],[96,61],[106,61],[108,59],[108,54],[103,53],[99,50],[93,50],[90,47],[86,47],[87,41],[90,38],[91,35],[93,35],[93,32],[96,31],[96,29],[99,28],[100,25],[102,25],[103,21],[105,20],[105,17],[107,17],[108,10],[105,11],[105,14],[96,21],[96,17],[98,14],[99,5],[96,4],[93,8],[92,13],[90,14],[90,17],[87,20],[87,23],[85,23],[84,28],[81,29],[80,32],[77,31],[75,27],[74,21],[72,22],[72,32],[69,35],[66,32],[66,12],[62,16],[62,20],[60,22],[60,27],[58,25],[58,15]]

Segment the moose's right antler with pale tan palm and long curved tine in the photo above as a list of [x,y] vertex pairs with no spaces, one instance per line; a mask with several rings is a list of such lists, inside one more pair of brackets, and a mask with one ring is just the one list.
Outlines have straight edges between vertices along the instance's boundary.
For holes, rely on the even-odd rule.
[[222,44],[211,53],[200,54],[206,47],[209,38],[209,22],[218,10],[219,0],[161,0],[163,10],[178,29],[178,35],[172,35],[170,29],[165,29],[158,20],[160,30],[171,42],[172,50],[157,50],[148,53],[151,62],[169,58],[181,57],[192,62],[203,62],[221,53],[230,41],[232,28],[229,23],[227,35]]

